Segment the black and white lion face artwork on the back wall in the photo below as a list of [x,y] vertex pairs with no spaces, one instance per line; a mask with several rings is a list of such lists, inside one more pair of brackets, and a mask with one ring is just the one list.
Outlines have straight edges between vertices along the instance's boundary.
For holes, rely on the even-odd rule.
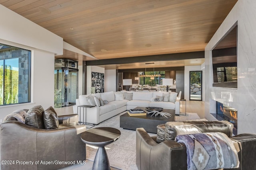
[[95,93],[104,92],[104,73],[92,72],[92,87],[95,88]]

